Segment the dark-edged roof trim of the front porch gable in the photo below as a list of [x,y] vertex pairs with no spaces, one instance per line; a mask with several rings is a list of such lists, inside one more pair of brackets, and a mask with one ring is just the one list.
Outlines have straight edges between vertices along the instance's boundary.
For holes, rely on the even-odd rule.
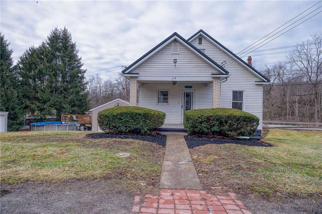
[[170,35],[165,40],[163,40],[158,45],[156,45],[154,48],[152,48],[150,51],[148,51],[142,57],[140,57],[139,59],[137,59],[135,62],[133,62],[131,65],[129,65],[126,69],[122,70],[122,73],[123,74],[129,73],[131,70],[135,69],[137,66],[139,66],[140,64],[142,64],[144,61],[146,61],[148,58],[150,58],[151,56],[153,56],[156,52],[158,52],[159,50],[161,50],[163,47],[165,47],[167,44],[169,44],[170,42],[174,41],[175,39],[177,41],[182,42],[183,44],[185,44],[188,49],[190,49],[191,51],[193,51],[195,54],[199,55],[199,57],[201,57],[203,60],[205,60],[206,62],[208,62],[211,66],[213,66],[214,68],[216,68],[217,70],[219,70],[221,73],[223,73],[223,74],[228,74],[229,73],[221,65],[219,65],[218,63],[216,63],[209,56],[207,56],[206,54],[204,54],[203,52],[201,52],[198,48],[196,48],[194,45],[192,45],[190,42],[188,42],[187,40],[185,40],[185,38],[183,38],[182,36],[180,36],[176,32],[173,33],[172,35]]

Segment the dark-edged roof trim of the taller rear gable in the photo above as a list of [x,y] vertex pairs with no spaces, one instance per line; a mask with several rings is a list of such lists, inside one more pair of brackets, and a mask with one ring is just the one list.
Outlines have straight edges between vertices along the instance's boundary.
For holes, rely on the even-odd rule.
[[207,38],[208,40],[210,40],[210,42],[214,42],[215,44],[217,44],[218,46],[220,46],[223,49],[224,52],[226,52],[228,55],[231,55],[233,58],[236,58],[236,60],[239,61],[247,70],[253,72],[256,76],[258,76],[264,82],[270,82],[270,79],[268,79],[267,77],[265,77],[258,70],[256,70],[253,67],[251,67],[247,62],[245,62],[244,60],[242,60],[240,57],[238,57],[236,54],[234,54],[232,51],[230,51],[228,48],[226,48],[225,46],[223,46],[220,42],[218,42],[217,40],[215,40],[213,37],[211,37],[208,33],[204,32],[203,30],[199,30],[197,33],[195,33],[194,35],[192,35],[187,40],[189,42],[191,42],[194,38],[196,38],[199,35],[204,36],[205,38]]

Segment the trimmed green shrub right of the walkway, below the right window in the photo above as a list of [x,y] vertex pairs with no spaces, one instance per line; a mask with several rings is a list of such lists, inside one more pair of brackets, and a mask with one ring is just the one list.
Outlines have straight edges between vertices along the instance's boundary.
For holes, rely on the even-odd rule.
[[196,134],[249,136],[256,132],[260,119],[233,108],[194,109],[184,112],[185,130]]

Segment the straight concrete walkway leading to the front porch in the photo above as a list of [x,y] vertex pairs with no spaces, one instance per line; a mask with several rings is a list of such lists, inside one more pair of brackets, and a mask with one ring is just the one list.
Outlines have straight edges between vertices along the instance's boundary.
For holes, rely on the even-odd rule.
[[202,189],[188,146],[182,132],[163,132],[166,135],[166,154],[162,164],[160,188]]

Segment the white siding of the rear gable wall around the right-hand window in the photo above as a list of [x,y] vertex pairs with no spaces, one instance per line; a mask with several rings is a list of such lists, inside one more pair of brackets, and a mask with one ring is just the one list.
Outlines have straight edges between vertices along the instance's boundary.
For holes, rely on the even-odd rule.
[[[199,36],[200,37],[200,36]],[[230,77],[221,84],[221,107],[231,108],[232,106],[232,91],[244,91],[244,111],[256,115],[260,118],[262,127],[262,85],[255,85],[255,81],[259,81],[254,74],[244,68],[235,60],[232,60],[225,52],[213,45],[211,42],[202,39],[202,45],[198,44],[196,37],[191,43],[198,49],[207,49],[207,56],[212,58],[219,65],[225,60],[231,60],[224,68],[228,70]],[[230,64],[231,63],[231,64]]]

